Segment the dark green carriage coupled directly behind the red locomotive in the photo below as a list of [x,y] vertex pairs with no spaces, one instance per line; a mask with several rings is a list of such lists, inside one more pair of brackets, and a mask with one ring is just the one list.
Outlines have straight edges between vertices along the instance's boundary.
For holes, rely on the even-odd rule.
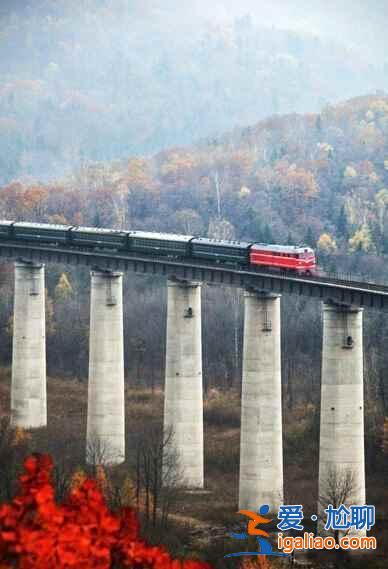
[[251,243],[224,241],[198,237],[192,240],[192,256],[196,259],[215,260],[218,263],[249,264]]

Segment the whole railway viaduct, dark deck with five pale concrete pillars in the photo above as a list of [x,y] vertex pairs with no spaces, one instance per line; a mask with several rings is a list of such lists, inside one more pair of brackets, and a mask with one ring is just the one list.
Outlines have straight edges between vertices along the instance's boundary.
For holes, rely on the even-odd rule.
[[362,318],[364,308],[387,310],[388,287],[36,242],[1,241],[0,257],[15,261],[11,421],[27,429],[47,423],[45,264],[90,267],[86,440],[87,448],[103,444],[112,464],[125,459],[123,272],[165,276],[164,425],[173,432],[166,453],[178,454],[191,488],[204,486],[201,286],[245,290],[239,506],[251,510],[283,502],[281,295],[316,298],[323,307],[319,493],[330,473],[351,471],[349,503],[365,503]]

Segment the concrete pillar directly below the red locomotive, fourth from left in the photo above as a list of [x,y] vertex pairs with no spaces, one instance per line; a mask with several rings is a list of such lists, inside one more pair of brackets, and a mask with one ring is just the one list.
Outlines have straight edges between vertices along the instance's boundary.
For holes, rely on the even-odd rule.
[[245,292],[239,508],[283,502],[280,297]]

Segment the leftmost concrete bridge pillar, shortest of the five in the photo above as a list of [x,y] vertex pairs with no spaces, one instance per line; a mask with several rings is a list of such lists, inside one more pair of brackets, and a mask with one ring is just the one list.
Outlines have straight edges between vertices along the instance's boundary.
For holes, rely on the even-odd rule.
[[15,263],[11,424],[47,425],[44,265]]

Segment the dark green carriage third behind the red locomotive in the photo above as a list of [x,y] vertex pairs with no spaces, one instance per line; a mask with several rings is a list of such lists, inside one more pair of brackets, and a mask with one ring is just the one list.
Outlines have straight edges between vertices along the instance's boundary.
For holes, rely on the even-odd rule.
[[69,230],[68,239],[72,245],[80,247],[125,250],[128,245],[128,233],[119,229],[77,226]]

